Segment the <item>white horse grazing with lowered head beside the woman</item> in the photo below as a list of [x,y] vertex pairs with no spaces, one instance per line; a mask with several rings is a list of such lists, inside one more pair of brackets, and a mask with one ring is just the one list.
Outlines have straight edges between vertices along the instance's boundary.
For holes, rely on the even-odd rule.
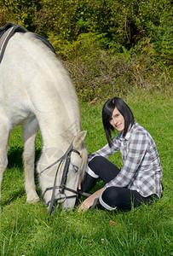
[[[78,180],[84,176],[87,161],[86,131],[80,131],[78,97],[61,61],[31,32],[16,32],[9,39],[0,64],[0,191],[8,165],[9,135],[16,125],[23,127],[26,201],[38,200],[34,161],[40,128],[43,149],[37,172],[43,199],[53,203],[53,195],[53,201],[64,199],[62,208],[74,207]],[[69,152],[70,165],[62,183]],[[61,185],[67,188],[63,192]]]

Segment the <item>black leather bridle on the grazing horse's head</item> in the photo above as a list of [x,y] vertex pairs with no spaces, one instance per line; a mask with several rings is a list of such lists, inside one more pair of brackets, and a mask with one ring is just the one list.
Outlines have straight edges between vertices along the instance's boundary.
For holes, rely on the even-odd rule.
[[[52,190],[51,200],[44,203],[44,205],[49,206],[48,215],[53,214],[53,212],[55,212],[56,208],[59,207],[59,204],[66,201],[66,199],[78,197],[79,194],[89,196],[88,193],[84,193],[80,190],[74,190],[74,189],[70,189],[70,188],[66,187],[66,180],[67,180],[67,175],[68,175],[68,171],[69,171],[69,166],[70,166],[70,163],[71,163],[71,154],[72,154],[72,152],[80,155],[78,150],[72,148],[72,144],[71,144],[70,147],[66,150],[66,153],[63,154],[60,159],[56,160],[53,164],[51,164],[50,166],[48,166],[42,172],[39,173],[39,174],[42,174],[44,171],[48,170],[52,166],[55,166],[55,164],[57,164],[59,162],[59,165],[58,165],[56,173],[55,173],[55,180],[54,180],[53,187],[49,187],[49,188],[45,189],[44,192],[43,192],[43,195],[42,195],[42,198],[43,198],[43,196],[45,195],[45,193],[47,191]],[[65,162],[64,170],[63,170],[62,177],[61,177],[61,184],[60,184],[60,186],[56,186],[56,178],[57,178],[58,171],[60,169],[60,166],[61,166],[63,160],[66,160],[66,162]],[[59,189],[58,195],[60,195],[60,197],[55,199],[56,189]],[[65,190],[72,192],[74,195],[66,196]]]

